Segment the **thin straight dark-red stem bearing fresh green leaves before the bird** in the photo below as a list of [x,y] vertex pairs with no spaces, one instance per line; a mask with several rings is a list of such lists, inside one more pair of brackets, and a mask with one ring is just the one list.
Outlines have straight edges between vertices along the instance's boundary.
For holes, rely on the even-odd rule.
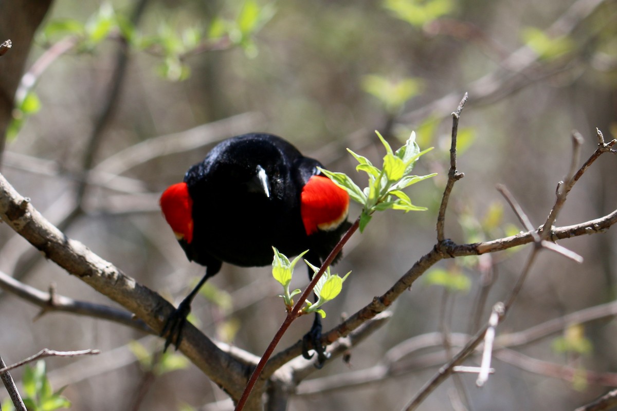
[[347,243],[347,241],[349,241],[349,238],[352,236],[352,234],[354,234],[355,230],[358,229],[359,225],[360,218],[358,217],[354,224],[349,227],[349,230],[347,230],[345,235],[341,237],[341,240],[336,243],[336,246],[334,246],[333,250],[330,251],[330,253],[328,254],[328,258],[326,258],[323,264],[321,264],[319,271],[315,275],[313,275],[313,279],[309,283],[309,286],[305,288],[304,292],[302,293],[302,295],[300,295],[300,298],[298,299],[294,307],[291,309],[291,311],[287,313],[287,317],[285,317],[283,324],[281,324],[281,327],[278,328],[278,331],[272,338],[272,341],[270,341],[270,345],[268,345],[268,348],[263,353],[262,358],[259,360],[257,367],[255,367],[255,370],[253,370],[251,378],[249,378],[249,381],[246,384],[246,388],[244,388],[244,393],[242,393],[242,396],[238,400],[238,404],[236,405],[236,411],[241,411],[244,408],[244,404],[246,404],[247,399],[249,399],[249,395],[251,394],[251,391],[253,391],[255,383],[257,383],[259,376],[262,374],[263,367],[265,367],[266,363],[272,356],[272,352],[274,352],[276,345],[279,343],[279,341],[281,341],[281,338],[289,328],[289,325],[291,325],[291,323],[300,316],[300,310],[302,309],[302,306],[304,306],[304,302],[307,298],[309,298],[310,293],[312,293],[313,288],[315,288],[315,285],[321,278],[321,275],[323,275],[323,273],[326,271],[326,268],[328,268],[328,266],[332,264],[334,258],[336,258],[336,256],[341,252],[343,246]]

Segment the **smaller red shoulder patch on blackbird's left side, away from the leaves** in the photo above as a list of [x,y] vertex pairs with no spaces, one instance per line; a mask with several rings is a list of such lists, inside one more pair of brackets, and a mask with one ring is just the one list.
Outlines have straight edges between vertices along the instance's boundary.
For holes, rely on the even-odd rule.
[[178,240],[193,241],[193,198],[185,182],[167,187],[159,200],[167,224],[172,227]]

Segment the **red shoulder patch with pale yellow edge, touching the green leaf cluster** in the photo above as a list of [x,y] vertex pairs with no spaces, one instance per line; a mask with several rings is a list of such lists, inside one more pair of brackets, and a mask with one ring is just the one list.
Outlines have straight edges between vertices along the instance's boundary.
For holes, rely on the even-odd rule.
[[334,230],[347,218],[349,195],[326,176],[312,176],[302,188],[300,214],[307,235]]

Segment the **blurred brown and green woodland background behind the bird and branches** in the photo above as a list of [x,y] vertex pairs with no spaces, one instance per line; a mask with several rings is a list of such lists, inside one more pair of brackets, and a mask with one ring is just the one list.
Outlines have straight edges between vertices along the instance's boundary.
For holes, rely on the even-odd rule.
[[[16,96],[2,172],[70,237],[179,301],[202,268],[186,261],[157,198],[217,140],[272,132],[355,178],[346,147],[379,159],[375,129],[391,141],[415,130],[421,149],[436,147],[416,173],[439,175],[410,192],[429,211],[380,214],[355,236],[336,267],[354,275],[328,307],[327,329],[339,314],[381,295],[433,246],[450,113],[465,91],[470,101],[458,158],[465,178],[452,193],[447,236],[476,242],[521,229],[497,183],[510,188],[534,224],[544,221],[568,169],[571,130],[586,137],[584,157],[595,149],[596,127],[615,137],[616,20],[615,2],[599,0],[57,0],[35,38],[31,76]],[[613,211],[616,173],[614,157],[600,158],[558,224]],[[351,218],[358,212],[352,208]],[[59,294],[109,303],[9,230],[1,235],[2,271],[41,289],[53,282]],[[498,333],[615,298],[615,233],[565,245],[584,265],[543,254]],[[314,377],[371,367],[396,344],[444,327],[472,332],[507,295],[526,253],[442,263],[395,303],[389,325],[355,348],[349,364],[334,361]],[[196,300],[194,323],[207,335],[263,352],[284,315],[268,271],[225,266]],[[291,287],[304,285],[300,277]],[[47,361],[51,385],[68,385],[62,397],[73,409],[131,409],[137,401],[144,410],[217,409],[204,404],[226,398],[195,367],[173,356],[148,359],[162,347],[160,339],[68,314],[32,323],[38,309],[12,295],[2,294],[0,310],[6,313],[0,327],[10,330],[0,337],[7,363],[44,347],[104,351]],[[310,327],[303,320],[281,348]],[[611,372],[616,332],[613,320],[575,324],[520,352],[581,372]],[[291,409],[400,409],[439,366],[419,364],[373,385],[299,394]],[[482,389],[474,376],[460,378],[469,409],[573,409],[605,391],[585,378],[551,378],[499,360],[494,367]],[[449,381],[421,409],[452,408],[452,389]]]

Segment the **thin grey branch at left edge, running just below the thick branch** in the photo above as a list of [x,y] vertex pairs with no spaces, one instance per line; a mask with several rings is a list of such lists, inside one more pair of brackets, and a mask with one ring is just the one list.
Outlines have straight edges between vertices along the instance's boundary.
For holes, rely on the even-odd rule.
[[53,287],[50,287],[49,293],[44,293],[34,287],[30,287],[30,285],[15,280],[1,271],[0,288],[41,307],[41,312],[36,315],[37,319],[49,311],[70,312],[72,314],[87,315],[88,317],[117,322],[142,332],[152,333],[152,330],[143,321],[135,319],[130,312],[57,295]]

